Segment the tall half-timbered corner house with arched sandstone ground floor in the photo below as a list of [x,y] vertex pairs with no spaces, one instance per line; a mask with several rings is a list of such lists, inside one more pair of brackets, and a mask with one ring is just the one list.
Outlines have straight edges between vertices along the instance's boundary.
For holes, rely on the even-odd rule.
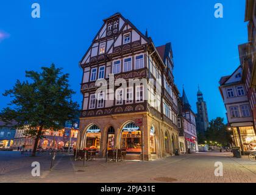
[[[127,159],[145,160],[179,150],[179,91],[170,43],[156,48],[147,33],[116,13],[104,19],[80,67],[84,96],[80,149],[94,147],[104,157],[107,149],[126,148]],[[115,86],[116,79],[123,79],[128,87]],[[151,83],[140,80],[129,85],[129,79]],[[102,82],[101,90],[96,81]],[[108,88],[111,85],[115,88]]]

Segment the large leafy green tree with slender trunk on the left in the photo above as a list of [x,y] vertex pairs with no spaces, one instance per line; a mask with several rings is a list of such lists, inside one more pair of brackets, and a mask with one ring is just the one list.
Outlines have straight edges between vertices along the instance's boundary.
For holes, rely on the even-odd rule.
[[27,124],[24,135],[35,138],[32,156],[45,130],[63,129],[66,121],[74,121],[79,110],[77,102],[72,101],[75,92],[69,89],[69,74],[63,74],[62,68],[55,68],[54,64],[41,70],[40,73],[26,71],[30,82],[17,80],[11,90],[5,91],[3,95],[11,101],[0,114],[0,119],[7,124],[15,120],[16,128]]

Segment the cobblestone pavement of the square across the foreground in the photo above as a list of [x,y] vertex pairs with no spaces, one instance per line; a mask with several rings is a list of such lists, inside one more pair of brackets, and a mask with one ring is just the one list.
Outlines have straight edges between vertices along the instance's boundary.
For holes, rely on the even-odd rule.
[[[40,163],[41,176],[32,177],[31,163]],[[216,177],[215,162],[223,163],[223,177]],[[168,157],[155,161],[98,159],[74,161],[57,156],[49,171],[50,157],[25,157],[20,152],[0,152],[1,182],[256,182],[256,163],[230,153],[207,152]]]

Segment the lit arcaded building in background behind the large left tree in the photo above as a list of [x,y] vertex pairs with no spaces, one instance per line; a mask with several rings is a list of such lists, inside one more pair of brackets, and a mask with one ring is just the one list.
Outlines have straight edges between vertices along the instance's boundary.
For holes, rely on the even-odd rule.
[[[24,149],[33,149],[35,144],[35,138],[27,137],[24,135],[28,126],[24,126],[23,129],[17,129],[15,134],[15,139],[13,143],[13,148],[24,147]],[[62,148],[62,147],[76,147],[77,134],[79,132],[79,121],[66,122],[65,128],[63,130],[54,131],[46,130],[44,132],[44,138],[39,141],[38,147],[43,149],[46,148]]]

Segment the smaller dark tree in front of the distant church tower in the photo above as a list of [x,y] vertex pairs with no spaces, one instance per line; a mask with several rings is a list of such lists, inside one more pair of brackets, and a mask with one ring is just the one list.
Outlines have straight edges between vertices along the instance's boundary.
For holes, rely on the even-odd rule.
[[223,121],[224,118],[217,117],[209,122],[209,127],[205,132],[207,142],[217,142],[222,146],[228,146],[232,142],[230,132],[227,131],[227,126]]

